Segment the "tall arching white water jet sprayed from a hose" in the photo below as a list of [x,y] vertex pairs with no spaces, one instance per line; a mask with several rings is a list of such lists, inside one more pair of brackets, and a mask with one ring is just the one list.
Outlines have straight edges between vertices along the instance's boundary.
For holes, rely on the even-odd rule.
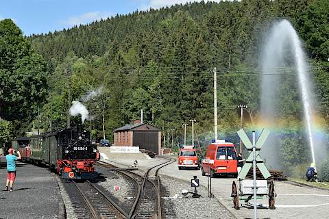
[[[271,33],[264,47],[264,59],[262,63],[263,68],[263,86],[261,107],[265,118],[269,118],[273,122],[275,117],[274,96],[278,91],[278,74],[282,70],[282,63],[284,63],[284,51],[287,48],[292,48],[293,60],[295,61],[295,68],[297,70],[297,79],[301,91],[303,110],[306,122],[306,133],[310,143],[310,151],[312,153],[312,160],[315,164],[315,152],[313,146],[312,120],[311,120],[311,90],[312,85],[308,77],[308,64],[302,49],[302,43],[298,35],[289,21],[282,20],[271,29]],[[280,69],[281,68],[281,69]],[[273,75],[271,75],[273,73]]]

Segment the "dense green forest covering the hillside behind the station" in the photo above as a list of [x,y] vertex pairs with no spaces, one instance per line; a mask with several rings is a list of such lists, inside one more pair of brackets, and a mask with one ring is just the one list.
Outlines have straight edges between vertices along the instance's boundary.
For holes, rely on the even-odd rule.
[[[35,130],[37,123],[42,131],[65,128],[71,96],[86,105],[92,121],[84,125],[91,124],[97,140],[103,138],[102,114],[112,142],[113,129],[140,118],[143,110],[145,122],[162,129],[162,146],[182,144],[182,123],[195,119],[204,147],[213,138],[214,68],[219,136],[236,143],[241,126],[236,106],[248,106],[245,129],[260,118],[260,51],[269,27],[282,18],[304,42],[317,114],[328,133],[329,1],[201,1],[32,36],[23,36],[11,20],[0,21],[0,143]],[[291,89],[295,83],[287,77],[278,105],[287,125],[278,131],[286,167],[310,160],[300,96]],[[101,92],[84,99],[93,90]],[[71,117],[72,125],[79,122]],[[326,153],[328,148],[326,143]]]

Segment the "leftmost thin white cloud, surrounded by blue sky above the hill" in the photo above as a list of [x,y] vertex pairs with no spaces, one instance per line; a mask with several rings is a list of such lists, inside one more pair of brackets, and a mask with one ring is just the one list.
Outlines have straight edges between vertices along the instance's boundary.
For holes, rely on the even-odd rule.
[[108,18],[109,16],[112,16],[111,12],[88,12],[80,16],[71,16],[64,23],[70,26],[87,24],[96,20],[99,21],[101,18]]

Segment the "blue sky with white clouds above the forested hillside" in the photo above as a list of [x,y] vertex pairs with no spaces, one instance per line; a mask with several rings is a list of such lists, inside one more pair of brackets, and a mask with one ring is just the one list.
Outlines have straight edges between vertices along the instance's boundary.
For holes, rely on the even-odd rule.
[[[100,18],[160,8],[188,0],[1,0],[0,20],[11,18],[23,34],[48,33]],[[200,0],[197,0],[200,1]],[[217,1],[217,0],[216,0]]]

